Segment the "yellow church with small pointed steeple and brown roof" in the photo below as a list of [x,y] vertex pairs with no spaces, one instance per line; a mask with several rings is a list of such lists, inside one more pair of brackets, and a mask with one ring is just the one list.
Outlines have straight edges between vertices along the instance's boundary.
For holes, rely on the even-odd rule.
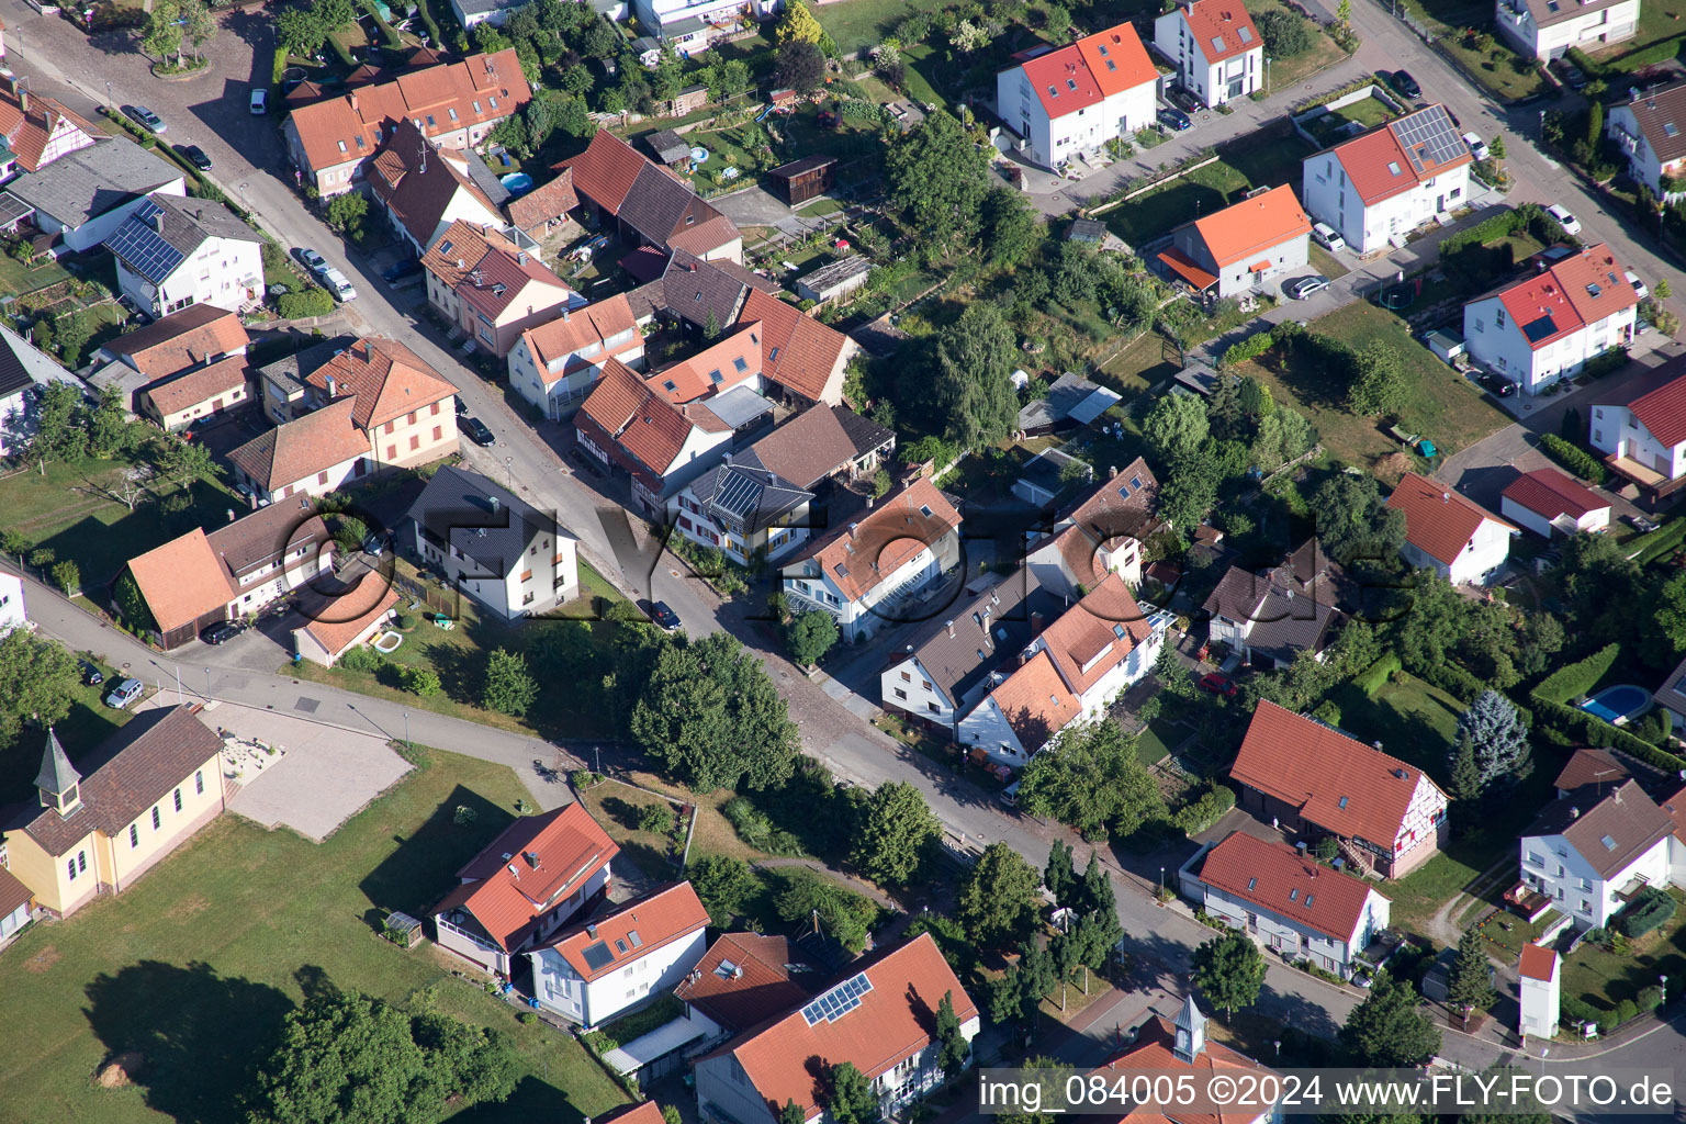
[[135,715],[83,762],[86,775],[47,730],[40,804],[15,814],[0,843],[7,870],[42,910],[66,917],[121,893],[223,812],[223,738],[199,709]]

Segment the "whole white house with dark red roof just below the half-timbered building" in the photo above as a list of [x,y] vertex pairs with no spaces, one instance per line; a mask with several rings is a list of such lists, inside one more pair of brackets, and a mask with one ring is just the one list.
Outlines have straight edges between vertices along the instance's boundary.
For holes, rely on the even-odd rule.
[[1281,841],[1232,831],[1179,871],[1182,893],[1290,961],[1350,976],[1352,959],[1388,927],[1393,903],[1374,883]]

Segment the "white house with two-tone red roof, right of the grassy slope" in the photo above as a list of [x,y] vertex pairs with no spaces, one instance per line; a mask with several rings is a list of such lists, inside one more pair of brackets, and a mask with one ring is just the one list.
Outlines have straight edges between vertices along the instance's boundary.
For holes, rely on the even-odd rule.
[[1634,340],[1639,293],[1603,243],[1566,253],[1463,305],[1469,356],[1528,394]]

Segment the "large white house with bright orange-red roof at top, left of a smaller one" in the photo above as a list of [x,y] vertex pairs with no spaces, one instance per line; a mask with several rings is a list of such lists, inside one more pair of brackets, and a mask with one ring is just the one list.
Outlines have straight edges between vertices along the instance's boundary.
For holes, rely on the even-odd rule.
[[996,108],[1042,167],[1094,157],[1153,123],[1158,67],[1130,24],[1013,61],[995,78]]

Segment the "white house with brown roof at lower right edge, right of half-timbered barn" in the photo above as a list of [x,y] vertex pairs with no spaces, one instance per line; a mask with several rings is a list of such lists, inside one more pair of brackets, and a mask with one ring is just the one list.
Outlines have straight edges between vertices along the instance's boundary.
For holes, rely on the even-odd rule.
[[1597,804],[1585,797],[1553,800],[1522,831],[1522,881],[1573,917],[1576,929],[1602,929],[1642,888],[1681,885],[1686,844],[1635,780]]

